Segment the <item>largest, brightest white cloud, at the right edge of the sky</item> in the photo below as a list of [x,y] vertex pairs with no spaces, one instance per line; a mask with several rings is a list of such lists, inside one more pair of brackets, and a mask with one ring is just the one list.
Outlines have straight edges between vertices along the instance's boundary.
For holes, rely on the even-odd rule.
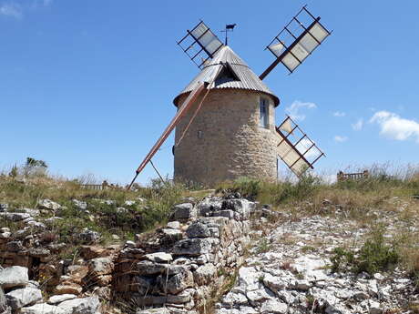
[[370,119],[370,123],[376,123],[381,127],[380,134],[383,137],[404,141],[415,139],[419,143],[419,123],[405,119],[393,112],[378,111]]

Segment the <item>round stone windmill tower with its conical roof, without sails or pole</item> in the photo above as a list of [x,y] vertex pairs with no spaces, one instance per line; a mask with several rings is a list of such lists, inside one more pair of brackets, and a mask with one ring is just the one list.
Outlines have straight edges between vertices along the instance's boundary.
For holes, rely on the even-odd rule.
[[[176,127],[175,180],[213,184],[237,177],[276,179],[280,99],[230,46],[214,58],[174,99],[184,102],[198,82],[213,82],[193,123],[189,111]],[[180,140],[181,139],[181,140]]]

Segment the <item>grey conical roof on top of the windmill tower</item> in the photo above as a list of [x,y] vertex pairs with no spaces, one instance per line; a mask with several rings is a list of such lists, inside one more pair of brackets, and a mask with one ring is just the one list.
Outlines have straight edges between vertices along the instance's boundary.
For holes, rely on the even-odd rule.
[[261,92],[272,96],[274,99],[274,105],[278,106],[280,104],[280,99],[278,96],[275,96],[271,90],[266,86],[261,79],[254,74],[254,72],[250,69],[246,63],[241,60],[240,56],[230,48],[230,46],[223,46],[214,58],[208,63],[202,71],[195,76],[195,78],[186,86],[178,96],[173,100],[175,106],[178,106],[179,97],[188,94],[193,90],[193,88],[197,85],[198,82],[212,82],[214,80],[214,76],[219,73],[220,67],[223,65],[228,64],[230,70],[232,70],[233,75],[236,76],[237,80],[230,80],[227,82],[223,82],[219,84],[212,84],[208,86],[210,89],[222,89],[222,88],[234,88],[234,89],[247,89],[256,92]]

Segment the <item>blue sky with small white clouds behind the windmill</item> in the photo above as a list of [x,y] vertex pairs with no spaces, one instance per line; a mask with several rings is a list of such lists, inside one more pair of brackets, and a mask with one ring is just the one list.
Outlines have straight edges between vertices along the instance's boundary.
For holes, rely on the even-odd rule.
[[[277,122],[300,117],[327,155],[319,171],[417,163],[417,1],[0,0],[0,169],[36,157],[127,183],[197,74],[176,45],[185,30],[237,23],[230,46],[261,74],[264,46],[305,3],[333,34],[291,76],[280,65],[265,79]],[[172,143],[153,159],[169,176]]]

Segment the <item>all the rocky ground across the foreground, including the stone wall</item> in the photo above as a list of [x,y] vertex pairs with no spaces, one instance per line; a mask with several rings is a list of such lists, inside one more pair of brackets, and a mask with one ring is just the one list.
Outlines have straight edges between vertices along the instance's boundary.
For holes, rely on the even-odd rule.
[[[88,204],[72,201],[86,212]],[[155,237],[136,235],[135,241],[100,246],[100,234],[83,229],[74,237],[85,245],[77,247],[72,258],[61,252],[66,243],[57,238],[45,241],[45,231],[55,230],[50,225],[63,219],[59,204],[41,199],[36,208],[14,210],[0,204],[0,221],[21,226],[0,226],[5,266],[0,268],[0,287],[5,290],[0,289],[0,314],[125,313],[123,307],[107,303],[116,294],[138,295],[141,285],[147,286],[138,296],[141,306],[130,312],[197,313],[194,299],[202,296],[208,299],[205,314],[392,314],[419,309],[419,291],[401,265],[392,271],[355,274],[351,269],[332,271],[331,260],[334,248],[359,250],[372,224],[386,225],[385,238],[409,232],[417,239],[418,218],[409,214],[419,206],[417,199],[389,199],[395,209],[370,210],[364,216],[368,221],[327,199],[321,215],[303,208],[276,211],[240,195],[186,201],[173,208],[175,221],[158,228]],[[42,211],[50,214],[42,216]],[[246,249],[248,239],[251,245]],[[179,271],[170,273],[169,268]],[[219,293],[208,289],[222,287],[228,278],[235,279],[230,288]],[[135,290],[134,281],[141,284]],[[168,296],[173,304],[167,304]],[[145,309],[150,305],[159,308]]]

